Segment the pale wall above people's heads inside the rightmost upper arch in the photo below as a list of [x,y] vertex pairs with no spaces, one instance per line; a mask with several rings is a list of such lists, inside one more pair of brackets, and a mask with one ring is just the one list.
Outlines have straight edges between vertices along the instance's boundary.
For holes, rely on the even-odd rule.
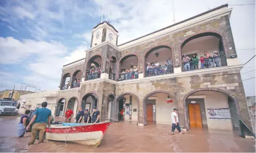
[[214,51],[219,51],[219,38],[215,36],[205,36],[192,39],[185,46],[183,46],[181,52],[183,54],[198,54],[198,57],[204,56],[204,52],[207,51],[209,55],[213,55]]

